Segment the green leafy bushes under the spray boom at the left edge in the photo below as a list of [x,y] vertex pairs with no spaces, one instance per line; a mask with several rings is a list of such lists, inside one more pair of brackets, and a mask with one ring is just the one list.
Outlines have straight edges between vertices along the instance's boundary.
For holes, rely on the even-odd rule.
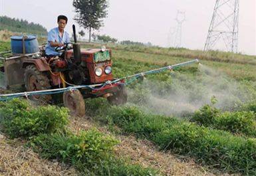
[[62,131],[68,124],[68,110],[57,106],[33,107],[26,100],[13,99],[0,108],[3,132],[11,138]]

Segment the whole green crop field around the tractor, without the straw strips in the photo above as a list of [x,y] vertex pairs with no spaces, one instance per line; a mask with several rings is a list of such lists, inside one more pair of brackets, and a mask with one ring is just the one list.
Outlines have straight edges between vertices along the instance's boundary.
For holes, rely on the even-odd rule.
[[[8,49],[8,44],[0,43],[0,52]],[[57,158],[82,173],[166,175],[158,167],[132,165],[116,157],[113,148],[118,141],[114,136],[133,135],[151,141],[162,153],[170,151],[193,159],[217,175],[256,174],[255,56],[160,47],[108,47],[112,48],[116,78],[193,58],[200,58],[201,63],[132,82],[127,86],[125,106],[110,106],[102,98],[85,100],[86,115],[98,128],[106,127],[110,135],[95,129],[70,132],[66,130],[69,122],[64,109],[47,106],[23,112],[29,105],[19,100],[0,108],[4,117],[17,110],[9,119],[3,118],[3,132],[13,138],[25,138],[43,158]],[[61,117],[54,112],[62,114]],[[86,144],[92,150],[87,150]]]

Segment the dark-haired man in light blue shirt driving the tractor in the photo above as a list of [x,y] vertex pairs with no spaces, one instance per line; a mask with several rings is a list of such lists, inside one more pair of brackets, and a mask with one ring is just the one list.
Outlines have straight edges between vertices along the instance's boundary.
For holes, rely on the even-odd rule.
[[64,43],[70,43],[69,35],[64,28],[66,27],[66,23],[68,22],[68,18],[64,15],[59,15],[58,17],[58,27],[51,29],[48,33],[47,37],[47,46],[45,48],[45,52],[48,58],[53,56],[60,56],[62,53],[57,52],[55,47],[62,47]]

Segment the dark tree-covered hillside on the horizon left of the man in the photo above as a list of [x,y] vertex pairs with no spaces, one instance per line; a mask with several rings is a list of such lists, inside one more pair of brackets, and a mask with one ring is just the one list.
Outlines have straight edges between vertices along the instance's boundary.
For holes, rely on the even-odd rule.
[[7,16],[0,17],[0,31],[8,30],[17,33],[27,33],[35,35],[47,35],[47,29],[42,25],[29,23],[27,20],[15,19]]

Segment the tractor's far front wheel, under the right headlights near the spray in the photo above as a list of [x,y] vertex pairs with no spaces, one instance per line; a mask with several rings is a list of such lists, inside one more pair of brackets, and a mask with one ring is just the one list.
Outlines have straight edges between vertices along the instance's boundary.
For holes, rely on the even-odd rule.
[[118,85],[118,90],[113,92],[113,96],[109,96],[108,102],[113,105],[122,105],[127,102],[127,92],[124,85]]

